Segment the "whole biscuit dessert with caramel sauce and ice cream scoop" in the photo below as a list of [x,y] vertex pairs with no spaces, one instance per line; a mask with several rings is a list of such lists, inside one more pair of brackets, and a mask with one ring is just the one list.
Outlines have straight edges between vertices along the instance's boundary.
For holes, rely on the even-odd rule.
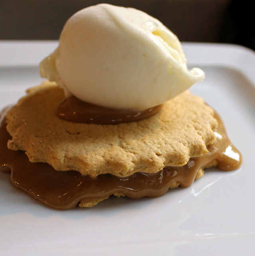
[[204,72],[189,71],[177,37],[141,11],[81,10],[40,72],[50,81],[1,115],[0,164],[48,206],[162,196],[204,168],[241,164],[220,117],[187,91]]

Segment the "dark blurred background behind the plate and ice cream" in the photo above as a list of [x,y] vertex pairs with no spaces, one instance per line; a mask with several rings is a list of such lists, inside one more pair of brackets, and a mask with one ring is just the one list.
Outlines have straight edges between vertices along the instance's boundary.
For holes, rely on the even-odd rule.
[[71,15],[103,2],[147,12],[180,41],[240,44],[255,50],[250,0],[0,0],[0,40],[58,39]]

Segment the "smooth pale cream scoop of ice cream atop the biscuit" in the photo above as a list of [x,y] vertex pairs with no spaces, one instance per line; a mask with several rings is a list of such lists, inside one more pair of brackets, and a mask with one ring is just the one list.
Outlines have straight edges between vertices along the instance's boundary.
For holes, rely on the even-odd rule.
[[177,36],[159,20],[109,4],[74,14],[40,73],[66,96],[121,109],[162,104],[204,79],[201,69],[187,69]]

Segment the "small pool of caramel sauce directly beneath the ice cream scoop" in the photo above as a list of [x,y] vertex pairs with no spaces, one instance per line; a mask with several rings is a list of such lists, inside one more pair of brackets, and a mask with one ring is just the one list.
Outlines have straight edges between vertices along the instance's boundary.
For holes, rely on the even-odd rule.
[[81,101],[75,96],[65,99],[57,107],[57,115],[74,123],[94,123],[101,125],[135,122],[157,114],[162,105],[143,111],[135,109],[110,109]]

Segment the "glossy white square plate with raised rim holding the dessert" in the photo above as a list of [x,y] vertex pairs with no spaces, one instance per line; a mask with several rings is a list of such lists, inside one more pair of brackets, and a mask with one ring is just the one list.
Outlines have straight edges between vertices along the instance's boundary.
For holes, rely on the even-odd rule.
[[[39,84],[38,63],[56,41],[0,42],[0,107]],[[47,208],[0,173],[2,256],[255,255],[255,53],[220,44],[183,44],[206,79],[192,93],[220,113],[243,155],[241,169],[212,169],[160,198],[110,198],[94,208]]]

